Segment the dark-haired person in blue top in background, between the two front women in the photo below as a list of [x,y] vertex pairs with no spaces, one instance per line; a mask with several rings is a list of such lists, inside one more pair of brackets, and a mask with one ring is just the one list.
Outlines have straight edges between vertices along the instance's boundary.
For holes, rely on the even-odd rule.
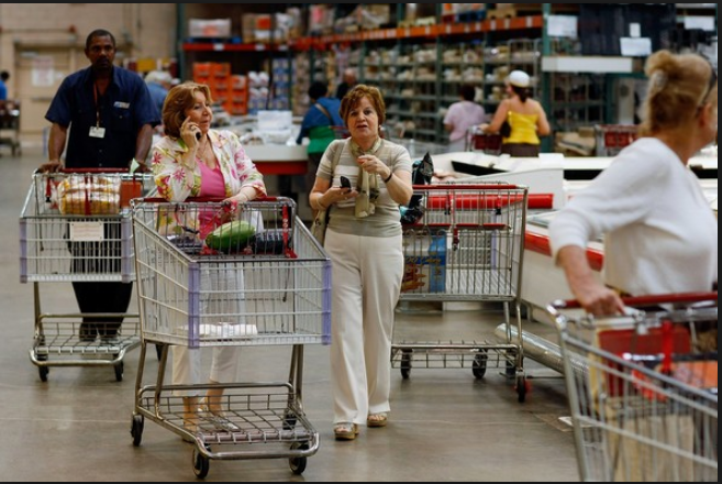
[[296,143],[301,144],[303,138],[308,136],[309,139],[309,166],[306,175],[306,189],[308,193],[313,187],[315,172],[319,169],[323,152],[336,138],[333,127],[341,127],[344,123],[341,114],[338,114],[341,101],[327,97],[327,94],[329,87],[324,82],[315,81],[309,87],[311,107],[303,117],[301,131],[296,140]]

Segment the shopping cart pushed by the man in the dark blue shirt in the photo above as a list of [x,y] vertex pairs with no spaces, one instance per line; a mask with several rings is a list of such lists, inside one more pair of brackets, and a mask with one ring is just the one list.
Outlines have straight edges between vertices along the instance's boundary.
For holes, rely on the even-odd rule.
[[[122,381],[123,358],[140,343],[137,314],[42,312],[40,283],[132,283],[130,199],[154,187],[149,175],[119,169],[33,175],[20,217],[20,282],[33,283],[30,360],[43,382],[51,366],[113,366]],[[80,338],[84,319],[102,328],[118,318],[118,338]]]

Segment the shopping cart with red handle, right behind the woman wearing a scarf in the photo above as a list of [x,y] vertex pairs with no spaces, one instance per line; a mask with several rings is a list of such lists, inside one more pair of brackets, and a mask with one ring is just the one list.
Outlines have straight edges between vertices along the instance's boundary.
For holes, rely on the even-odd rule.
[[521,340],[511,336],[510,306],[521,334],[526,199],[526,187],[504,183],[414,186],[403,217],[401,300],[501,302],[508,331],[502,343],[392,341],[391,365],[403,378],[412,367],[469,366],[481,378],[487,367],[503,365],[524,402],[523,352]]

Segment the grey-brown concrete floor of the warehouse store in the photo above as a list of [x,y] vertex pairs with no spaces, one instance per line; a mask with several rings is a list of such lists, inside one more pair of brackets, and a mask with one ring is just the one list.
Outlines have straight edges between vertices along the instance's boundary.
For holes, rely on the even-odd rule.
[[[33,285],[19,282],[19,218],[41,148],[8,150],[0,157],[0,469],[2,481],[193,481],[193,447],[145,421],[140,447],[130,433],[140,351],[129,352],[122,382],[112,367],[52,367],[43,383],[29,359],[33,341]],[[43,309],[75,312],[68,283],[43,283]],[[421,309],[421,310],[419,310]],[[493,340],[502,321],[495,305],[442,311],[401,305],[397,338],[416,341]],[[554,338],[548,327],[527,330]],[[146,378],[157,373],[155,352]],[[208,353],[208,352],[207,352]],[[243,351],[249,382],[284,380],[290,348]],[[207,362],[208,363],[208,362]],[[526,402],[500,371],[481,380],[470,369],[414,369],[392,373],[392,413],[384,429],[362,428],[353,442],[333,439],[329,348],[309,345],[304,358],[304,408],[320,433],[320,449],[301,476],[287,459],[210,461],[207,481],[577,481],[563,380],[527,359],[533,378]],[[237,446],[235,446],[237,447]],[[240,447],[238,452],[243,452]]]

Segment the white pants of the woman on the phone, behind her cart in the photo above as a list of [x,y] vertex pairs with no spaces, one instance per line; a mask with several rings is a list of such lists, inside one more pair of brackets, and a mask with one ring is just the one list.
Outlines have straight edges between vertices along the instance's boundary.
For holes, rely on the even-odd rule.
[[[200,315],[204,322],[218,319],[227,322],[245,322],[243,272],[233,264],[201,270]],[[214,316],[214,315],[218,315]],[[223,315],[223,316],[221,316]],[[173,346],[173,383],[200,385],[201,349]],[[214,346],[210,381],[235,383],[238,378],[238,346]],[[198,391],[178,391],[175,396],[197,396]]]

